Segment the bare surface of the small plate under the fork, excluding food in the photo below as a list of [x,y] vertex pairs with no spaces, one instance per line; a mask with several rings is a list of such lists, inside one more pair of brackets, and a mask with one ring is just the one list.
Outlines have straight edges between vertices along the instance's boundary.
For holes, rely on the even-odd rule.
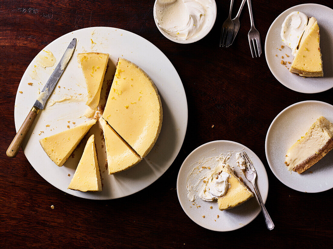
[[[199,197],[196,197],[195,205],[187,198],[187,177],[202,158],[211,158],[219,156],[221,153],[228,153],[229,151],[244,150],[253,162],[257,171],[257,187],[261,194],[263,202],[266,202],[268,195],[268,178],[264,165],[251,151],[240,143],[226,140],[218,140],[205,143],[195,150],[193,150],[185,159],[180,167],[177,178],[177,195],[181,207],[184,212],[198,225],[213,231],[232,231],[241,228],[252,220],[260,213],[261,208],[255,197],[238,207],[228,210],[219,210],[217,202],[205,202]],[[236,168],[236,167],[235,167]],[[241,175],[239,175],[241,176]],[[252,185],[246,180],[245,176],[242,177],[244,183],[252,190]],[[196,208],[197,206],[200,206]],[[213,208],[210,209],[210,206]],[[202,216],[205,216],[204,218]],[[219,215],[219,218],[217,218]],[[216,221],[215,221],[216,220]],[[265,226],[265,221],[262,218],[262,225]]]

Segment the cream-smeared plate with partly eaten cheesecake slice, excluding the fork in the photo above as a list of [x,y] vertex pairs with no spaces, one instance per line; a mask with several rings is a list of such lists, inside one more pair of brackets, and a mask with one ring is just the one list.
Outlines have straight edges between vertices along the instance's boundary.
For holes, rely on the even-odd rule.
[[248,154],[255,167],[257,188],[266,202],[267,173],[256,154],[233,141],[208,142],[186,157],[177,178],[180,205],[198,225],[214,231],[231,231],[247,225],[260,213],[252,185],[244,175],[246,162],[241,151]]

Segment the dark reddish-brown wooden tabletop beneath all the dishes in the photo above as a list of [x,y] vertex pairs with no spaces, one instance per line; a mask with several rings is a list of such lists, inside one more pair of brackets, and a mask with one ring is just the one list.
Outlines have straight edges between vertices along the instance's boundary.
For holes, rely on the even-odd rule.
[[[234,44],[220,48],[220,28],[229,1],[216,2],[212,31],[198,42],[178,44],[158,31],[153,0],[0,1],[1,248],[333,247],[332,190],[309,194],[286,187],[268,167],[264,148],[267,129],[281,110],[304,100],[333,104],[333,89],[317,94],[294,92],[273,77],[264,51],[260,58],[252,59],[246,5]],[[240,2],[235,1],[233,13]],[[306,2],[333,8],[331,0],[252,1],[262,47],[274,19],[287,8]],[[16,133],[17,87],[30,61],[58,37],[93,26],[125,29],[155,44],[179,73],[188,101],[186,137],[171,167],[148,188],[110,201],[65,194],[32,168],[22,150],[15,159],[5,154]],[[180,207],[174,189],[182,161],[199,145],[219,139],[244,144],[264,163],[269,179],[266,207],[274,230],[267,230],[260,213],[239,230],[213,232],[191,221]]]

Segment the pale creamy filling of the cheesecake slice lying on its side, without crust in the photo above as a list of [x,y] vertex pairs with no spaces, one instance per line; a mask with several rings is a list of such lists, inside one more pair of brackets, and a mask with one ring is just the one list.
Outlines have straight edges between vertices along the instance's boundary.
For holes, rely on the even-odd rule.
[[304,162],[333,139],[333,124],[326,118],[320,117],[304,136],[297,140],[287,151],[285,164],[291,171],[298,164]]

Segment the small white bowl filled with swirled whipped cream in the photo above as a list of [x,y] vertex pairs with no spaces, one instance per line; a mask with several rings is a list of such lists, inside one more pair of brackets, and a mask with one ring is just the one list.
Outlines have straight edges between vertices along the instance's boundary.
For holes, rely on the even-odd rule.
[[216,20],[215,0],[156,0],[154,20],[159,31],[177,43],[205,37]]

